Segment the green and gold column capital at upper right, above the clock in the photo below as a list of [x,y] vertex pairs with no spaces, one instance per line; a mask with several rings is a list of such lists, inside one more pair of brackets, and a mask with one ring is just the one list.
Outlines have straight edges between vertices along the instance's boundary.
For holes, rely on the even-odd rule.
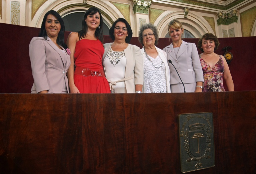
[[230,13],[219,12],[217,16],[218,16],[218,19],[217,19],[218,25],[229,25],[234,22],[237,22],[238,20],[236,9],[233,9]]

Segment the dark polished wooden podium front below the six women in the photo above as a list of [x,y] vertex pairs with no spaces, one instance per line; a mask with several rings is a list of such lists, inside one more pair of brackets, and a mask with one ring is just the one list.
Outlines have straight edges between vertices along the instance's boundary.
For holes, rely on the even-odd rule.
[[215,166],[256,173],[256,91],[0,94],[0,173],[181,173],[178,115],[212,112]]

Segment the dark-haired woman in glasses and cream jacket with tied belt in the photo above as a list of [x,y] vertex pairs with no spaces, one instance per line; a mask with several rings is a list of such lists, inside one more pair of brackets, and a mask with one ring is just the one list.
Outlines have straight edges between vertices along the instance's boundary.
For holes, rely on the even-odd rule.
[[112,43],[104,44],[103,65],[111,93],[141,93],[143,68],[140,48],[129,44],[130,24],[118,18],[109,29]]

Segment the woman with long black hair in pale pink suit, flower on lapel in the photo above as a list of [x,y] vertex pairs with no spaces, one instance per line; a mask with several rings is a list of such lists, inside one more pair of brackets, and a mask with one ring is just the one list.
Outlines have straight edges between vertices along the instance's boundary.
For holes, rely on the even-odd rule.
[[61,16],[48,11],[39,32],[29,44],[34,84],[31,93],[68,93],[67,71],[70,51],[64,42],[65,26]]

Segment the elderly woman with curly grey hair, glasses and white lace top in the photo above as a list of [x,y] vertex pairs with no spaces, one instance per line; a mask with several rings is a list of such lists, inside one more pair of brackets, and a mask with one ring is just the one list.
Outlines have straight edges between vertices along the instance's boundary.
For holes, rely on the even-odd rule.
[[144,70],[142,91],[144,93],[171,92],[167,55],[155,46],[159,39],[156,27],[151,23],[141,26],[138,39],[143,46],[141,49]]

